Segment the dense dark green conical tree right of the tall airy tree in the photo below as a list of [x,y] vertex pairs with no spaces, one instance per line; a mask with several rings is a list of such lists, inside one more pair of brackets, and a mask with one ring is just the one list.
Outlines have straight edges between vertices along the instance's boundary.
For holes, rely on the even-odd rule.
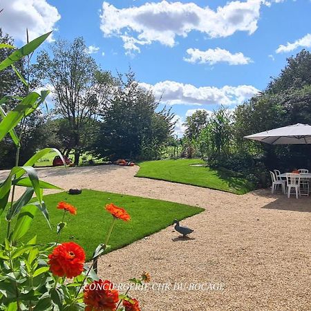
[[151,91],[140,87],[133,73],[126,74],[126,81],[119,77],[119,82],[101,115],[93,151],[111,160],[151,156],[149,151],[157,152],[171,135],[173,115],[166,109],[156,112],[158,102]]

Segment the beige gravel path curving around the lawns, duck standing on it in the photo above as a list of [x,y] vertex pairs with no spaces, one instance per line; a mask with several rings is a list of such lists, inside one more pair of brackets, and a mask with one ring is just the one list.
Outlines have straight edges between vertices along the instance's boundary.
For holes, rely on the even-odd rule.
[[98,189],[206,209],[182,222],[195,230],[191,239],[178,238],[168,227],[102,257],[100,275],[115,283],[150,272],[149,288],[130,292],[143,310],[311,310],[311,198],[271,196],[266,190],[237,196],[134,178],[137,171],[39,169],[39,176],[64,189]]

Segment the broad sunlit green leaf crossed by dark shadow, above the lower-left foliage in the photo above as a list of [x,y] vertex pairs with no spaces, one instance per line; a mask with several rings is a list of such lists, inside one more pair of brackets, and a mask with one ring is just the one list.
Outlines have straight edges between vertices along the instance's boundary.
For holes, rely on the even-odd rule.
[[37,214],[37,207],[35,205],[26,205],[21,209],[12,232],[12,241],[17,241],[28,232],[32,219],[35,218],[35,214]]

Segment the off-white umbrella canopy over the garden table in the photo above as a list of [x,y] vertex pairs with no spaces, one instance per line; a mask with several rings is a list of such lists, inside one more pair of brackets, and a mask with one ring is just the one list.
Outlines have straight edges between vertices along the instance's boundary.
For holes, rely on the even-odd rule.
[[244,136],[249,140],[258,140],[267,144],[311,144],[311,126],[294,124]]

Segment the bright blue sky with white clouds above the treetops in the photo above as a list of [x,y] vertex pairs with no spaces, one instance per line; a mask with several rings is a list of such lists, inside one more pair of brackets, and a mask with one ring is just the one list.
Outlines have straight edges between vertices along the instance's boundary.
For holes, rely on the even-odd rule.
[[[92,56],[113,74],[131,66],[143,86],[172,104],[178,133],[194,109],[211,111],[218,104],[233,109],[265,88],[286,57],[311,47],[310,0],[2,0],[1,5],[0,26],[17,42],[26,27],[33,36],[53,28],[54,38],[84,37]],[[13,26],[19,15],[23,18]]]

